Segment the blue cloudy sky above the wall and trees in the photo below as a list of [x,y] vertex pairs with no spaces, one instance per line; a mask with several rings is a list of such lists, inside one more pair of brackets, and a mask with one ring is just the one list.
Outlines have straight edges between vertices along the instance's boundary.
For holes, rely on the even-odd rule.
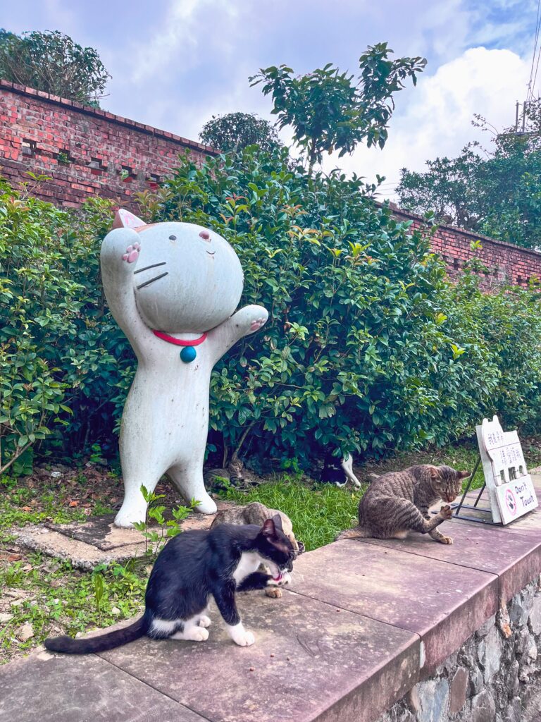
[[[417,87],[395,96],[384,149],[330,156],[394,199],[400,168],[454,157],[514,123],[532,70],[538,0],[20,0],[5,3],[0,27],[61,30],[95,48],[112,79],[102,108],[198,140],[211,116],[257,113],[269,121],[270,97],[250,87],[260,68],[286,64],[304,74],[332,62],[355,73],[369,45],[387,42],[395,57],[423,56]],[[534,69],[539,56],[536,55]],[[541,67],[534,95],[541,95]],[[291,143],[288,129],[281,131]]]

